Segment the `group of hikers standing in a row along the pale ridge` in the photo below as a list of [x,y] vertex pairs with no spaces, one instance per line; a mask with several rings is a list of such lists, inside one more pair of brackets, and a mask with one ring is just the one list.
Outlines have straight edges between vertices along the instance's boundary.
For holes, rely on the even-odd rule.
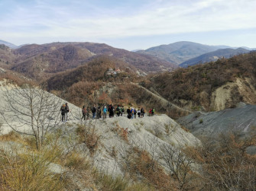
[[[61,111],[61,121],[65,122],[68,120],[68,114],[70,112],[70,109],[68,107],[68,104],[63,104],[62,107],[60,107]],[[91,114],[90,114],[91,113]],[[126,110],[128,119],[136,119],[136,116],[138,115],[138,118],[144,117],[144,108],[138,107],[138,110],[136,110],[134,107],[128,107]],[[82,108],[82,118],[81,120],[90,119],[90,115],[92,119],[106,119],[107,114],[109,114],[109,118],[116,116],[123,116],[125,114],[125,107],[121,105],[113,106],[112,104],[109,104],[108,106],[103,107],[96,107],[96,105],[93,105],[92,107],[86,107],[83,106]],[[148,116],[154,116],[154,108],[149,110]]]

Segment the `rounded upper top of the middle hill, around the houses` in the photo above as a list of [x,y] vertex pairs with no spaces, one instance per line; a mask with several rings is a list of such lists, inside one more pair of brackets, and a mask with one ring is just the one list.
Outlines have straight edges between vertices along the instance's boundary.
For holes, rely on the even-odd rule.
[[[124,62],[118,62],[111,56],[97,56],[86,65],[79,66],[66,72],[60,72],[47,80],[47,88],[52,90],[65,90],[79,81],[109,82],[125,81],[126,78],[135,78],[134,68],[128,67]],[[121,73],[117,75],[106,75],[109,68],[120,68]]]

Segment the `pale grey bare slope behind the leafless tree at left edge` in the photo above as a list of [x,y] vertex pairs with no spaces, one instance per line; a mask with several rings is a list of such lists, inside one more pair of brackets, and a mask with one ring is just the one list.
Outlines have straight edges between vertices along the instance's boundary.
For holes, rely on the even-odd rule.
[[[43,103],[41,103],[41,95],[38,96],[38,94],[41,94],[42,92],[45,94],[44,100],[42,99]],[[31,92],[29,92],[29,94],[30,93]],[[0,105],[2,107],[2,110],[0,111],[0,135],[8,134],[13,129],[24,133],[32,132],[31,108],[28,102],[28,97],[24,94],[26,94],[26,90],[20,91],[15,85],[6,84],[6,81],[0,81]],[[12,98],[8,100],[7,97]],[[38,89],[34,89],[33,97],[35,97],[32,101],[34,126],[42,123],[44,123],[45,126],[48,124],[53,125],[54,123],[60,123],[60,107],[66,103],[66,100],[62,100],[53,94]],[[9,104],[10,102],[13,108],[11,108]],[[43,106],[40,106],[41,104]],[[53,105],[56,105],[56,107],[53,107]],[[68,106],[70,107],[70,119],[80,119],[80,109],[72,103],[68,103]],[[48,108],[54,108],[54,110],[48,110]],[[15,112],[15,110],[18,112]],[[11,129],[11,127],[13,129]]]

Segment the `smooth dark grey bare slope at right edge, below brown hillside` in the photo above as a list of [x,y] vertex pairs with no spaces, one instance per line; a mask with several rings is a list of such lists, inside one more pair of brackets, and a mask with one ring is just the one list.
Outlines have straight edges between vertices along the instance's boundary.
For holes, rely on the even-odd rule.
[[256,106],[239,103],[238,107],[218,112],[195,112],[181,117],[177,123],[190,129],[196,137],[217,137],[224,133],[240,132],[248,135],[256,126]]

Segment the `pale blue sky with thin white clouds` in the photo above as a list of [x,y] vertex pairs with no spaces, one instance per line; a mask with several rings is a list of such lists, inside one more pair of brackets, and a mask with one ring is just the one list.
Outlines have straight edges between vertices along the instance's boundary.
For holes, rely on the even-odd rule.
[[255,0],[0,0],[0,40],[123,49],[192,41],[256,48]]

